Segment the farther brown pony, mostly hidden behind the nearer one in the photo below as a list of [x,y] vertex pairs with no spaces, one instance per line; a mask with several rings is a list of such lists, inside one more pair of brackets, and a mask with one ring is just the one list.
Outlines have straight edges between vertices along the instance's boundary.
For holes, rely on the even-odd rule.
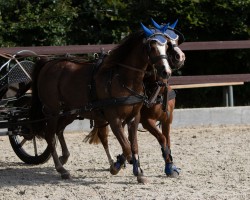
[[[181,49],[178,47],[178,39],[168,39],[168,61],[171,64],[171,67],[175,67],[177,69],[180,69],[184,65],[185,61],[185,54],[181,51]],[[153,104],[150,106],[144,105],[140,111],[141,118],[140,123],[142,126],[147,129],[152,135],[156,137],[158,140],[161,150],[162,150],[162,156],[165,161],[165,173],[167,176],[175,177],[179,175],[179,169],[173,165],[173,159],[171,156],[171,143],[170,143],[170,130],[171,130],[171,124],[173,121],[173,111],[175,107],[175,92],[171,89],[170,86],[167,86],[166,81],[162,80],[162,78],[158,77],[157,80],[154,75],[151,76],[145,76],[144,77],[144,83],[147,91],[148,96],[152,96],[154,94],[154,91],[157,90],[157,88],[160,89],[159,84],[162,82],[164,84],[164,87],[162,87],[159,91],[159,94]],[[160,81],[160,82],[159,82]],[[157,128],[157,122],[160,122],[161,124],[161,131]],[[133,122],[129,123],[129,129],[134,126]],[[90,144],[98,144],[100,142],[98,138],[98,134],[100,132],[108,132],[107,127],[100,128],[94,128],[84,139],[85,142],[89,141]],[[108,137],[108,134],[106,133],[106,136]],[[114,163],[114,159],[111,156],[111,153],[109,152],[108,148],[108,139],[106,139],[104,142],[102,142],[102,145],[105,149],[105,152],[107,154],[108,160],[110,165]],[[119,162],[119,157],[116,163]]]

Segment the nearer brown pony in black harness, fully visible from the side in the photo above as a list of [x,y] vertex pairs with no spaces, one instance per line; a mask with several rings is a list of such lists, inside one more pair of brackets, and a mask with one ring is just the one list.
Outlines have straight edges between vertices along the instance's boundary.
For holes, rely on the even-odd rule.
[[[95,121],[102,142],[106,140],[106,127],[109,123],[118,139],[123,153],[120,160],[111,166],[115,174],[125,161],[133,160],[133,173],[138,182],[145,182],[140,168],[137,144],[137,127],[131,130],[128,141],[124,125],[134,117],[146,100],[143,78],[148,66],[154,66],[157,74],[167,79],[171,68],[167,61],[167,45],[161,33],[153,33],[144,28],[129,35],[109,56],[98,62],[77,62],[62,58],[40,60],[34,67],[32,77],[32,130],[44,137],[48,143],[56,170],[62,178],[70,178],[63,167],[69,151],[63,136],[65,127],[78,118]],[[163,42],[163,43],[162,43]],[[58,157],[55,148],[55,134],[62,147]]]

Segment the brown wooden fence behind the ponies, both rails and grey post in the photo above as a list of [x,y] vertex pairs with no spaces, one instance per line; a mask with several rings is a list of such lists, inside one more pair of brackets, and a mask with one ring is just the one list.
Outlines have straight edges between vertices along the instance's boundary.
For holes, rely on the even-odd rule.
[[[39,47],[5,47],[0,48],[0,54],[16,54],[21,50],[30,50],[38,55],[65,55],[98,53],[101,49],[112,50],[116,44],[100,45],[69,45],[69,46],[39,46]],[[250,40],[185,42],[180,45],[183,51],[250,49]],[[227,86],[224,88],[226,106],[233,106],[233,85],[250,82],[250,74],[203,75],[171,77],[170,84],[175,89]]]

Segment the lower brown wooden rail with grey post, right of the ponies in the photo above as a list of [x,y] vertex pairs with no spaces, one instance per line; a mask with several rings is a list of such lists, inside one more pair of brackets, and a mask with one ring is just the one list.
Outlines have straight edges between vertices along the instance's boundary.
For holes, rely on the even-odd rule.
[[224,87],[225,106],[234,106],[233,86],[243,85],[245,82],[250,82],[250,74],[173,76],[169,80],[173,89]]

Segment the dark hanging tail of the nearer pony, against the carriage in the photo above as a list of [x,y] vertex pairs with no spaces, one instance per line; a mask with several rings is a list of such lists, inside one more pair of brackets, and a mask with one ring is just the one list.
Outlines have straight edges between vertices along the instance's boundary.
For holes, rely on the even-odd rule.
[[48,58],[41,58],[39,59],[33,68],[32,71],[32,98],[31,98],[31,108],[30,108],[30,120],[31,121],[37,121],[34,123],[31,123],[31,129],[32,129],[32,133],[43,137],[43,131],[44,127],[46,125],[46,121],[45,120],[41,120],[44,119],[44,114],[42,112],[42,102],[40,101],[39,95],[38,95],[38,88],[37,88],[37,82],[38,82],[38,77],[40,74],[40,71],[42,69],[42,67],[47,63]]

